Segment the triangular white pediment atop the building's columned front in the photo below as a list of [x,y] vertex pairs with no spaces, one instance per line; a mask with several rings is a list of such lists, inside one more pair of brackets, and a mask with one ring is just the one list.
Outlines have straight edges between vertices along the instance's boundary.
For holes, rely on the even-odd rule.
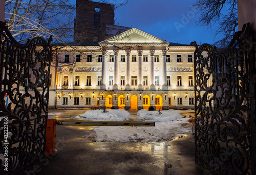
[[158,37],[132,28],[100,43],[168,43]]

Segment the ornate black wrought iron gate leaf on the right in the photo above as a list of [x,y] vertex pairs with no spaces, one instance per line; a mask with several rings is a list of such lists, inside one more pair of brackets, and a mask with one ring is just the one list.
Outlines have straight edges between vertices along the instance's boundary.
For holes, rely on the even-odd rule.
[[255,33],[195,51],[195,154],[205,174],[255,174]]

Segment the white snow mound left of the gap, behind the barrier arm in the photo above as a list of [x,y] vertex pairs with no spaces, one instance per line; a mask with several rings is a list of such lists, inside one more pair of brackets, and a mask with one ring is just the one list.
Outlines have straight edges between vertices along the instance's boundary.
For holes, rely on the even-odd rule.
[[108,113],[103,113],[103,110],[87,111],[84,114],[75,118],[88,121],[125,121],[130,117],[129,112],[125,110],[106,110]]

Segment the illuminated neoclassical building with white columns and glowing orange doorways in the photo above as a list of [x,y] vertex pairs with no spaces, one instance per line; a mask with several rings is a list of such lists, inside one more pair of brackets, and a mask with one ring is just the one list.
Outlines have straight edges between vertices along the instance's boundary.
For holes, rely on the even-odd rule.
[[194,107],[194,46],[132,28],[96,45],[55,47],[49,106]]

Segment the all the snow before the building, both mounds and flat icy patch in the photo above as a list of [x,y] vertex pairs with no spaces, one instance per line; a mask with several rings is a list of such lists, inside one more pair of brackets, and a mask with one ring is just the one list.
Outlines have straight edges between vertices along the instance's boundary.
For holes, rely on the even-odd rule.
[[[99,112],[100,111],[100,112]],[[118,116],[127,119],[128,112],[124,110],[108,110],[109,113],[101,113],[102,110],[87,111],[84,113],[86,120],[104,120],[104,121],[121,121]],[[115,117],[110,117],[110,114]],[[186,111],[188,113],[189,111]],[[95,114],[94,114],[95,113]],[[128,115],[126,115],[128,113]],[[191,128],[184,128],[181,125],[188,122],[187,117],[180,115],[182,111],[145,111],[140,110],[138,115],[139,121],[155,121],[155,127],[152,126],[100,126],[94,128],[96,132],[96,142],[163,142],[170,141],[186,133],[191,133]],[[91,117],[89,116],[91,115]],[[81,118],[80,115],[79,118]],[[130,115],[129,115],[130,116]],[[77,116],[78,117],[78,116]],[[90,119],[89,119],[90,118]]]

